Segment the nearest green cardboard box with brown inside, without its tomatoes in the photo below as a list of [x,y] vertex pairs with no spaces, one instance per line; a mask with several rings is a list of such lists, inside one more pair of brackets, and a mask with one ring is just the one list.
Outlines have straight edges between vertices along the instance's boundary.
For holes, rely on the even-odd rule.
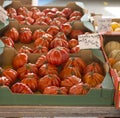
[[[14,50],[6,50],[15,56]],[[7,52],[4,52],[7,53]],[[103,57],[100,58],[99,57]],[[89,55],[89,56],[88,56]],[[7,55],[6,55],[7,56]],[[43,95],[15,94],[7,87],[0,87],[0,105],[50,105],[50,106],[113,106],[114,86],[109,72],[106,70],[104,56],[101,50],[81,50],[77,55],[87,63],[96,61],[103,65],[105,78],[102,88],[91,88],[86,95]],[[34,58],[35,56],[31,55]],[[98,58],[97,58],[98,57]],[[5,56],[2,57],[6,58]],[[11,56],[12,59],[12,56]],[[11,61],[9,61],[10,64]],[[31,60],[31,62],[34,62]],[[7,63],[8,64],[8,63]]]

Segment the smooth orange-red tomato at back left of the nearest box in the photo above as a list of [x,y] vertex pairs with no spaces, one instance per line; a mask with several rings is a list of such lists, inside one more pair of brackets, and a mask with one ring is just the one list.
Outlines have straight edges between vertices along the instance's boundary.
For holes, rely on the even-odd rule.
[[26,53],[18,53],[12,61],[12,65],[15,69],[23,66],[28,62],[28,55]]

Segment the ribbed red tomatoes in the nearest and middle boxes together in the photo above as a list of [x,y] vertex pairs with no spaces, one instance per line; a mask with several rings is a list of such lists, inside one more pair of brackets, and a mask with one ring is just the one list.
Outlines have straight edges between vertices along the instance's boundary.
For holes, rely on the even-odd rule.
[[[24,94],[84,95],[90,88],[100,88],[105,76],[101,64],[72,56],[80,51],[78,34],[84,33],[80,29],[74,30],[69,23],[61,27],[50,26],[46,31],[32,31],[28,27],[8,29],[0,39],[6,46],[15,48],[17,54],[12,59],[11,68],[1,67],[0,85]],[[19,43],[22,46],[16,48]],[[32,47],[26,46],[29,44]],[[71,51],[75,47],[77,50]],[[34,53],[39,58],[31,63],[28,54]]]

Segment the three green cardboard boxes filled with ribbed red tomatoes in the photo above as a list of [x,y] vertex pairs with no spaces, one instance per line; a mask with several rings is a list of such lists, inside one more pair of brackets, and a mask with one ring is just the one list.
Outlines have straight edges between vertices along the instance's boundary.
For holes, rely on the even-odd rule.
[[76,2],[60,8],[17,3],[5,8],[10,23],[0,32],[0,104],[7,94],[12,105],[113,105],[102,50],[79,45],[78,35],[94,32],[85,9]]

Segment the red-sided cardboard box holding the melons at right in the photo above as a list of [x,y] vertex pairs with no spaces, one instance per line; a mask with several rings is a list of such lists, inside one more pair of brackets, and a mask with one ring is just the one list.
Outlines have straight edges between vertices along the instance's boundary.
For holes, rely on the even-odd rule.
[[[118,41],[120,42],[120,34],[104,34],[103,35],[103,51],[106,61],[108,62],[108,57],[105,53],[104,46],[109,41]],[[108,62],[109,64],[109,62]],[[110,66],[110,65],[109,65]],[[115,87],[115,96],[114,96],[114,103],[117,109],[120,109],[120,77],[117,74],[117,71],[110,66],[110,74],[113,79],[114,87]]]

